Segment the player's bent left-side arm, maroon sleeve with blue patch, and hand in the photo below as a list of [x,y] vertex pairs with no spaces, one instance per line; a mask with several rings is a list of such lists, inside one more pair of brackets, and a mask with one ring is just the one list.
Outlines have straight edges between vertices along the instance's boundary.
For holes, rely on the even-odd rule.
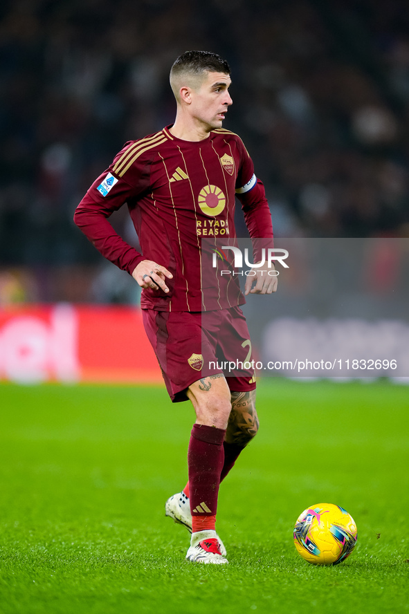
[[89,188],[74,214],[75,224],[87,236],[97,250],[134,277],[141,288],[168,292],[165,277],[172,278],[164,266],[146,260],[135,248],[113,230],[108,218],[131,196],[135,188],[112,171],[103,173]]

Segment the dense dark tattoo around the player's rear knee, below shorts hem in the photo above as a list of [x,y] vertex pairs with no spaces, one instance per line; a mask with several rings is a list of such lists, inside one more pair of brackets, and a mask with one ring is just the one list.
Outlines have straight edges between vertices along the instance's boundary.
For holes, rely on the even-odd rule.
[[257,434],[259,421],[255,411],[255,391],[233,392],[232,411],[228,420],[226,441],[247,445]]

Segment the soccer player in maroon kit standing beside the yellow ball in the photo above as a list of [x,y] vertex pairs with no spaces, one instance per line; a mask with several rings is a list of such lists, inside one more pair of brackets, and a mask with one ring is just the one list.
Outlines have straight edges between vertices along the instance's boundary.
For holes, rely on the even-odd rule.
[[[232,104],[230,82],[228,63],[215,53],[188,51],[176,59],[170,71],[174,124],[127,142],[74,216],[101,254],[143,288],[143,322],[167,391],[173,402],[189,399],[194,407],[188,484],[167,500],[165,512],[192,532],[186,558],[212,564],[228,562],[215,527],[219,484],[259,423],[253,370],[225,377],[217,364],[219,356],[249,360],[239,308],[245,300],[231,277],[216,278],[206,268],[202,239],[216,248],[217,240],[235,238],[236,195],[251,238],[273,237],[253,162],[239,136],[222,127]],[[142,253],[108,221],[124,203]],[[245,294],[275,291],[276,277],[262,268],[254,272]]]

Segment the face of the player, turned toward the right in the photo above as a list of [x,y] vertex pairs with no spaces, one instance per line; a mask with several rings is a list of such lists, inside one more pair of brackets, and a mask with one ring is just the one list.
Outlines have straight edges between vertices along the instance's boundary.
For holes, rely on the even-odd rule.
[[221,128],[233,100],[228,93],[231,79],[225,73],[206,73],[201,85],[192,93],[191,113],[206,131]]

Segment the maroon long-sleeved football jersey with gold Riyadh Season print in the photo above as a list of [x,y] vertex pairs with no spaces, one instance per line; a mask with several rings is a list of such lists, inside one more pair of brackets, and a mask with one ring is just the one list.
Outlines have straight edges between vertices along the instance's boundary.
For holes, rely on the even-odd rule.
[[[217,129],[205,140],[185,141],[168,128],[129,141],[89,188],[75,223],[104,257],[130,274],[142,260],[172,272],[170,292],[144,289],[141,306],[201,311],[243,304],[237,278],[217,275],[203,238],[215,248],[234,239],[235,196],[252,237],[272,237],[264,189],[242,140]],[[125,243],[107,218],[127,203],[142,254]],[[217,241],[217,243],[216,243]],[[209,248],[207,248],[209,250]]]

